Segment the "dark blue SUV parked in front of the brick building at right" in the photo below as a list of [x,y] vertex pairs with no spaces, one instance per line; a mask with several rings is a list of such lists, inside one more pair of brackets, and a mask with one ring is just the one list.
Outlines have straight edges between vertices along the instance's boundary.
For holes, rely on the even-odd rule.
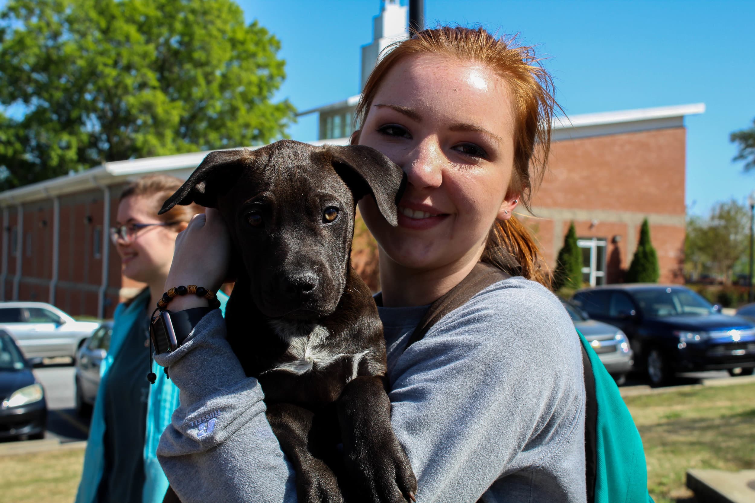
[[677,372],[755,367],[755,324],[719,314],[698,293],[679,285],[624,284],[579,290],[572,299],[590,317],[627,334],[652,385]]

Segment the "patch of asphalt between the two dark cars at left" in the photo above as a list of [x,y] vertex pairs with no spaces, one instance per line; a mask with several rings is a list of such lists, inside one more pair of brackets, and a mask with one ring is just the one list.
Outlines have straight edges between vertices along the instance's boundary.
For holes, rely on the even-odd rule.
[[42,382],[48,401],[48,431],[45,438],[57,438],[60,442],[86,440],[89,419],[76,414],[73,366],[46,365],[35,368],[34,373]]

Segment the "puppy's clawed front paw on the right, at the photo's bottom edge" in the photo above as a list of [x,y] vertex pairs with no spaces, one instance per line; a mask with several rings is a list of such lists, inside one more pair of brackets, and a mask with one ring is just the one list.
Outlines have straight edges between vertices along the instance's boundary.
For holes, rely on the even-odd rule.
[[[393,432],[391,432],[393,433]],[[368,449],[355,449],[346,455],[347,469],[353,476],[359,501],[369,503],[406,503],[415,501],[417,478],[396,437],[391,434],[372,440]]]

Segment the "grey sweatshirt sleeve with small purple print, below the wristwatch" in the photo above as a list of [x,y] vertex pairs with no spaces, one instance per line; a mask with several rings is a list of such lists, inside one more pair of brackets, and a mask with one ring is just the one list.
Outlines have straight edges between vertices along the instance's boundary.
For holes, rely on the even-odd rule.
[[294,470],[265,417],[262,388],[233,354],[219,309],[177,351],[155,360],[180,389],[157,457],[183,503],[297,501]]

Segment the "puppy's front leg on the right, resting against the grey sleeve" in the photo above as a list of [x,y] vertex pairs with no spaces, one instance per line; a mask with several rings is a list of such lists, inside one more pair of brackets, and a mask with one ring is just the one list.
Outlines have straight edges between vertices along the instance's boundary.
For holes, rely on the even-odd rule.
[[414,501],[417,479],[390,426],[390,401],[377,376],[359,376],[338,399],[338,421],[347,471],[359,486],[360,501]]

